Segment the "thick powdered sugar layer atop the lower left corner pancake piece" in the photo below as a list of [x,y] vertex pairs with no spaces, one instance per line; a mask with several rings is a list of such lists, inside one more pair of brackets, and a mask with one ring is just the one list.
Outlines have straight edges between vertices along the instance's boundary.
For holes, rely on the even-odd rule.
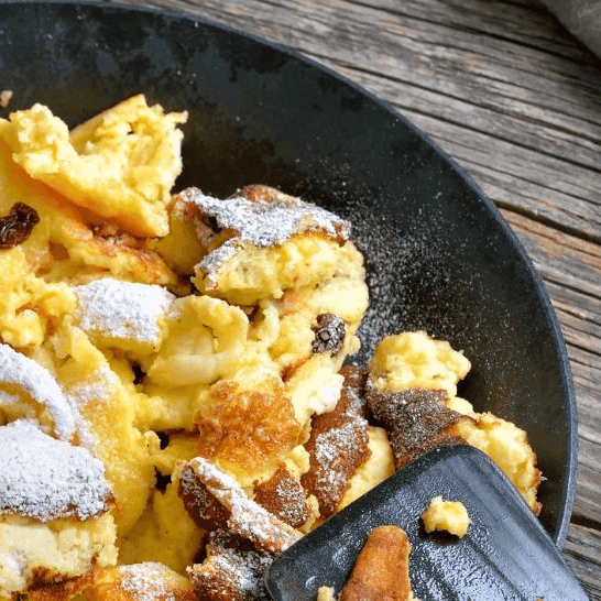
[[25,419],[0,427],[0,513],[48,522],[108,510],[105,468],[87,449],[56,440]]

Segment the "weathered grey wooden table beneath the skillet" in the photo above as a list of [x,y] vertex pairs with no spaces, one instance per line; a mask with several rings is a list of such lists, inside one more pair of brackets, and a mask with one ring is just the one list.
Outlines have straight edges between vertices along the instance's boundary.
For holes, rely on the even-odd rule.
[[534,0],[134,3],[319,61],[412,120],[494,200],[534,260],[568,345],[580,459],[565,556],[601,600],[601,59]]

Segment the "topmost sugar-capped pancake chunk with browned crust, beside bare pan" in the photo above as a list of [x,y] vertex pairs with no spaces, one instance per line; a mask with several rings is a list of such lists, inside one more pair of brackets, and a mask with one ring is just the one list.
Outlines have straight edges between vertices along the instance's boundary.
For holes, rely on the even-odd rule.
[[362,275],[348,223],[299,198],[252,186],[225,200],[197,188],[178,199],[197,207],[192,219],[203,254],[194,282],[200,292],[249,305],[336,274]]

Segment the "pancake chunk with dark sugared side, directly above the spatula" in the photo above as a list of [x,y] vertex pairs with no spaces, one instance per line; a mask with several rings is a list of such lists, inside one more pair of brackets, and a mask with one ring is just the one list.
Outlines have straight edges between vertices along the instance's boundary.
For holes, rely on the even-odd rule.
[[456,396],[468,370],[462,353],[425,332],[390,336],[378,346],[365,394],[389,433],[395,465],[401,468],[442,444],[472,445],[496,462],[538,514],[540,471],[526,433],[491,413],[474,412]]

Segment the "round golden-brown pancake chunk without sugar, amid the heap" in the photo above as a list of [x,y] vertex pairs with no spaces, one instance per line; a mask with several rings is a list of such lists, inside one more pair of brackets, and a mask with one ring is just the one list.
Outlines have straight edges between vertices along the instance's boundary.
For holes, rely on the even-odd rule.
[[214,384],[195,420],[199,454],[243,485],[273,471],[300,436],[282,381],[262,369]]

